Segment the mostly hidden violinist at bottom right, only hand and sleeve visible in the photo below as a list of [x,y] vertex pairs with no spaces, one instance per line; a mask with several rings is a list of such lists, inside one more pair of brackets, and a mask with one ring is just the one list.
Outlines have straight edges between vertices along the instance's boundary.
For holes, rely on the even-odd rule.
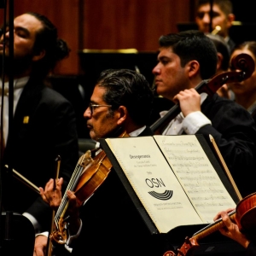
[[[229,212],[231,212],[234,209],[227,209],[223,212],[218,212],[217,215],[213,218],[214,221],[218,220],[219,218],[222,218],[222,221],[224,223],[224,228],[219,229],[221,234],[224,236],[228,236],[231,239],[237,241],[241,244],[242,247],[246,248],[246,255],[256,255],[256,243],[255,241],[251,241],[251,239],[247,238],[247,236],[239,230],[238,225],[231,221]],[[252,219],[253,221],[253,219]]]

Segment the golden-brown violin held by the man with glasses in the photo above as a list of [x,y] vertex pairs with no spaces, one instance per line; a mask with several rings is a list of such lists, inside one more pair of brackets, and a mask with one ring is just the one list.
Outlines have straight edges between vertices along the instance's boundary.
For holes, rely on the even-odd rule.
[[[129,135],[124,131],[119,137],[129,137]],[[57,244],[65,244],[67,241],[68,216],[66,216],[66,212],[69,205],[67,190],[74,191],[79,207],[81,207],[84,201],[88,200],[102,185],[111,171],[112,164],[107,154],[101,148],[97,149],[96,152],[92,151],[88,150],[80,157],[62,197],[60,207],[55,213],[55,230],[49,238]],[[93,158],[92,153],[96,154]]]

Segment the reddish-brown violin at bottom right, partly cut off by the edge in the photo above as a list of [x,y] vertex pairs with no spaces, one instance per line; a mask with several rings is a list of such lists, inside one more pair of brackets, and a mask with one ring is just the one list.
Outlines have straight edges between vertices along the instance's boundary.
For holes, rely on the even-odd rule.
[[[241,233],[251,235],[255,233],[256,228],[256,193],[247,195],[236,206],[236,210],[229,212],[230,219],[234,221]],[[183,246],[177,249],[177,253],[167,251],[164,256],[190,256],[193,255],[198,243],[202,238],[211,235],[213,232],[224,227],[221,218],[218,218],[214,223],[196,232],[191,238],[185,238]]]

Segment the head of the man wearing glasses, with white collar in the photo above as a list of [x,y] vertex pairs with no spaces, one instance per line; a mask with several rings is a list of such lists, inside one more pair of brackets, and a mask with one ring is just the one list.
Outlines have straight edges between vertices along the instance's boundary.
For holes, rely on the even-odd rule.
[[90,137],[118,137],[122,131],[131,133],[131,137],[141,132],[152,135],[145,126],[152,99],[148,83],[139,74],[128,70],[103,72],[84,112]]

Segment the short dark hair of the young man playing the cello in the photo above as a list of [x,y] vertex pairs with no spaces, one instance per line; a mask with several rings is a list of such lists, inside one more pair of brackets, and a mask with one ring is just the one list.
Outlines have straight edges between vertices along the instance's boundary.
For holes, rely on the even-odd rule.
[[200,31],[189,30],[179,33],[170,33],[161,36],[160,47],[172,47],[172,51],[179,56],[184,67],[189,61],[198,61],[200,64],[201,79],[210,79],[217,68],[217,50],[210,38]]

